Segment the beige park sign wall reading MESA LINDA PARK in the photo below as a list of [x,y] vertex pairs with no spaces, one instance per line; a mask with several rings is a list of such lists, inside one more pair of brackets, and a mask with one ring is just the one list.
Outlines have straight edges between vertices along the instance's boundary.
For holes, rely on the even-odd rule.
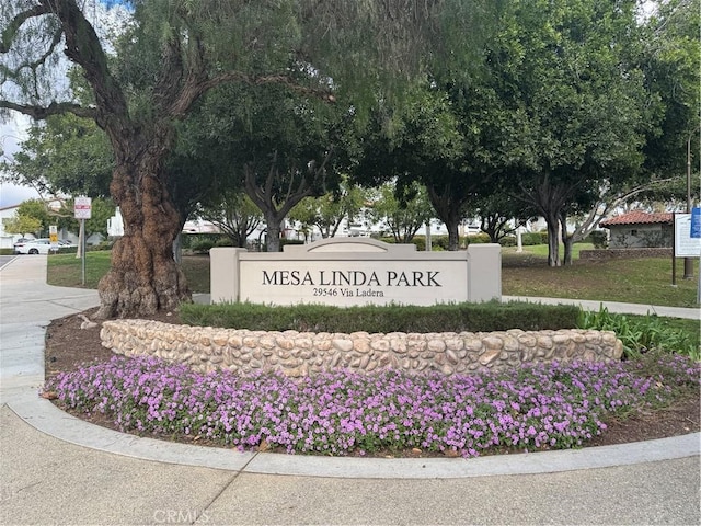
[[211,301],[435,305],[502,297],[498,244],[417,252],[413,244],[333,238],[283,252],[210,251]]

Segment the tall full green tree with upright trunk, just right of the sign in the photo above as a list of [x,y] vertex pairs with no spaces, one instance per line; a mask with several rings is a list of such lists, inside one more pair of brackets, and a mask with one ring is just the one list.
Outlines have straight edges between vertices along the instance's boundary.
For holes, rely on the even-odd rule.
[[514,111],[516,153],[503,172],[548,224],[550,266],[561,265],[559,226],[594,206],[642,165],[654,98],[631,56],[635,2],[512,2],[490,49],[502,105]]

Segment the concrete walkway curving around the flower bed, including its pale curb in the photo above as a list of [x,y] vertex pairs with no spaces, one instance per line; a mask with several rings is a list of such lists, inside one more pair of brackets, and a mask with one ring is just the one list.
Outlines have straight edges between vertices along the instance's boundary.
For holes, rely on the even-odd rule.
[[469,460],[360,459],[242,454],[88,424],[37,391],[46,324],[97,295],[45,276],[45,256],[0,271],[0,524],[701,522],[699,434]]

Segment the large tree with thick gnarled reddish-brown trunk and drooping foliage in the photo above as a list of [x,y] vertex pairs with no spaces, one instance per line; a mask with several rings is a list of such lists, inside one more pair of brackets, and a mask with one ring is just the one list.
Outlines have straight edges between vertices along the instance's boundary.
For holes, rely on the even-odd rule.
[[[450,60],[464,54],[453,50],[466,48],[480,25],[475,19],[487,10],[476,0],[135,0],[129,5],[131,25],[114,58],[76,0],[0,7],[0,108],[36,119],[59,113],[92,118],[114,152],[110,191],[122,209],[125,236],[100,282],[102,318],[150,315],[189,299],[173,260],[182,218],[165,164],[177,122],[203,94],[230,82],[285,84],[321,98],[332,87],[371,85],[366,92],[376,93],[378,82],[421,70],[428,48],[455,66]],[[61,57],[82,72],[92,103],[57,93]],[[291,78],[290,59],[313,65],[321,75]],[[321,80],[329,78],[334,84]]]

